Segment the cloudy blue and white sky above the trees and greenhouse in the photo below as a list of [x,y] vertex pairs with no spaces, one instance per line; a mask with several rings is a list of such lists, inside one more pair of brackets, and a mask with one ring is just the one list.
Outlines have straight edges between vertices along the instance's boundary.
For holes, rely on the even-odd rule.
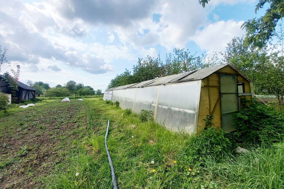
[[51,87],[69,80],[106,89],[138,57],[161,57],[174,48],[223,52],[245,34],[241,25],[261,16],[255,0],[2,0],[0,45],[20,81]]

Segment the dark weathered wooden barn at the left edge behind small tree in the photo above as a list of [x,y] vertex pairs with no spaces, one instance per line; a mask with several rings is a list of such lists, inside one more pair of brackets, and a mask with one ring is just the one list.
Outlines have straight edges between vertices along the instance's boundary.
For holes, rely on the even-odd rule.
[[35,98],[34,88],[29,87],[28,85],[19,81],[17,83],[18,91],[15,94],[12,94],[9,83],[5,81],[2,75],[0,75],[0,92],[12,94],[12,102],[21,102],[22,100],[30,100]]

